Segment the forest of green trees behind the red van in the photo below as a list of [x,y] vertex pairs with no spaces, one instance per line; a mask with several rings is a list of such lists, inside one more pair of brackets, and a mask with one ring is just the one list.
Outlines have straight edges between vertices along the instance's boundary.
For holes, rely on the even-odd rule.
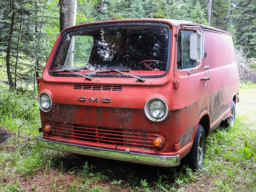
[[[69,10],[71,4],[77,6],[75,12]],[[73,24],[68,23],[70,12],[75,13]],[[60,31],[122,18],[203,22],[232,33],[236,51],[256,58],[256,0],[1,0],[0,83],[10,90],[34,86],[36,94],[36,79]]]

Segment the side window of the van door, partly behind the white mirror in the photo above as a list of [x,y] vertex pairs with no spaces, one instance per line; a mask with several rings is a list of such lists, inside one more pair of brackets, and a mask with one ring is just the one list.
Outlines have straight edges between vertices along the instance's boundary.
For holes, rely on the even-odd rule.
[[190,35],[195,33],[189,30],[178,32],[177,68],[179,70],[196,67],[196,60],[190,59]]

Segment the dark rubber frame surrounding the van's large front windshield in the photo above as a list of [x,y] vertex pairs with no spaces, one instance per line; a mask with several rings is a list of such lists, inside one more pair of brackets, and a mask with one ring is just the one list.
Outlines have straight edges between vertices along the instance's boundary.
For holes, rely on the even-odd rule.
[[[79,28],[75,28],[72,30],[67,30],[64,31],[64,33],[62,33],[62,37],[60,38],[60,41],[58,42],[58,46],[56,48],[56,51],[54,52],[54,56],[50,62],[50,66],[48,69],[48,74],[50,76],[62,76],[62,77],[79,77],[79,74],[74,74],[74,73],[63,73],[60,72],[58,73],[58,71],[56,72],[51,72],[51,69],[53,67],[53,64],[56,60],[56,57],[58,55],[59,49],[62,45],[62,41],[64,39],[64,37],[66,36],[66,34],[70,34],[72,32],[76,32],[76,31],[80,31],[80,30],[86,30],[86,29],[91,29],[91,28],[103,28],[103,27],[114,27],[114,26],[160,26],[160,27],[164,27],[166,29],[168,29],[168,47],[167,47],[167,64],[166,64],[166,70],[163,74],[157,74],[157,75],[148,75],[148,74],[143,74],[143,75],[138,75],[136,74],[136,76],[140,77],[140,78],[160,78],[160,77],[164,77],[168,74],[169,69],[170,69],[170,58],[171,58],[171,44],[172,44],[172,27],[171,25],[168,25],[166,23],[162,24],[162,23],[154,23],[154,22],[128,22],[128,23],[114,23],[114,24],[110,24],[110,23],[102,23],[102,24],[98,24],[98,25],[92,25],[92,26],[84,26],[84,27],[79,27]],[[75,68],[74,68],[75,69]],[[72,70],[72,68],[70,68],[70,70]],[[113,69],[113,70],[118,70],[118,69]],[[146,72],[146,71],[145,71]],[[84,74],[84,75],[88,75],[88,74]],[[89,74],[90,77],[112,77],[112,78],[132,78],[131,75],[129,74],[124,74],[124,73],[109,73],[109,74],[102,74],[102,73],[92,73]]]

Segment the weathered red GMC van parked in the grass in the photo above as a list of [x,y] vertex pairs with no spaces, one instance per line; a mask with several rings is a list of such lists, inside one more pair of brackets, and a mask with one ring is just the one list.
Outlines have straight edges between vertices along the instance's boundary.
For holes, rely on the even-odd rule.
[[37,145],[157,166],[187,156],[200,169],[206,136],[234,125],[238,81],[228,32],[167,19],[73,26],[39,79]]

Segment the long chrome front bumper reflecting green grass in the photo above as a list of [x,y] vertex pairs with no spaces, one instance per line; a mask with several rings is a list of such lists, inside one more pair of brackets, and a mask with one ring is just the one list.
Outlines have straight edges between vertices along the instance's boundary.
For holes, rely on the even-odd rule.
[[118,150],[104,149],[104,148],[96,148],[91,146],[83,146],[70,144],[67,142],[59,142],[44,139],[40,136],[36,138],[36,144],[42,148],[48,148],[63,152],[82,154],[100,158],[114,159],[120,161],[134,162],[140,164],[148,164],[148,165],[156,165],[156,166],[178,166],[180,164],[180,156],[179,155],[171,155],[171,156],[157,156],[157,155],[149,155],[142,153],[134,153],[134,152],[124,152]]

